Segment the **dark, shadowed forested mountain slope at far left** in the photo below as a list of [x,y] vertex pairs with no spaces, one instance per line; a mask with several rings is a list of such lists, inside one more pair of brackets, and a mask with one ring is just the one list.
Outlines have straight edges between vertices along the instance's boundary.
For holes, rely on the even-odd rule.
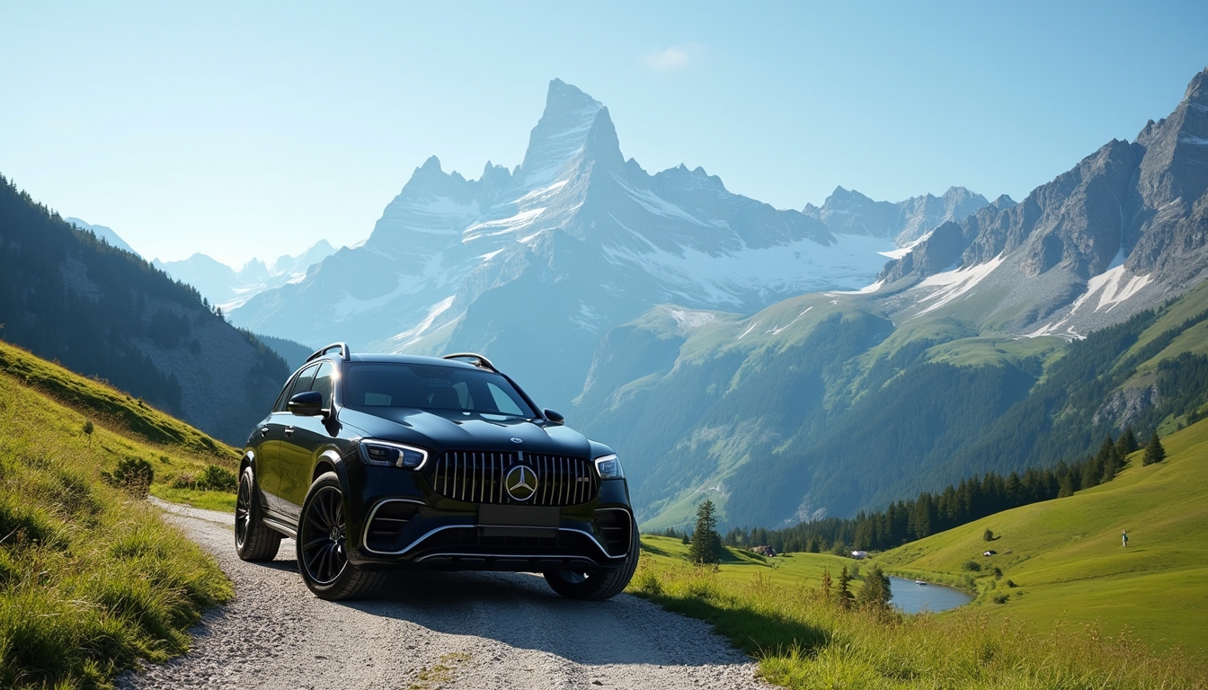
[[196,290],[0,178],[0,337],[242,443],[285,363]]

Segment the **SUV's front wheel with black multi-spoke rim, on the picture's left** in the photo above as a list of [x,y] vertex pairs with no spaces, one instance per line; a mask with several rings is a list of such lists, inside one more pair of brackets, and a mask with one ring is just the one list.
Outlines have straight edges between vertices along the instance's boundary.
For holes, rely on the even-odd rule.
[[298,521],[298,572],[320,599],[347,601],[368,595],[382,581],[381,573],[361,570],[348,561],[344,493],[336,472],[314,480],[302,501]]

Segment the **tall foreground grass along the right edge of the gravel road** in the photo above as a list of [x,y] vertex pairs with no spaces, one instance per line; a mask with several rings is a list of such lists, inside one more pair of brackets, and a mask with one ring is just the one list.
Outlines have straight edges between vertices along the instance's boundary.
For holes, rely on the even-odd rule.
[[1156,655],[1094,626],[991,622],[976,614],[843,609],[814,590],[643,555],[629,591],[714,624],[761,675],[795,689],[1157,690],[1208,688],[1208,669],[1178,650]]

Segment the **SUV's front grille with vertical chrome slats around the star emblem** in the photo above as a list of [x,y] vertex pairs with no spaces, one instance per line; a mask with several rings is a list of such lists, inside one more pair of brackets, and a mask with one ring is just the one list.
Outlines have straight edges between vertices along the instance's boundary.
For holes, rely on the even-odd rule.
[[[516,465],[536,475],[536,493],[516,500],[504,488],[504,477]],[[599,477],[591,460],[519,451],[449,451],[436,462],[436,493],[466,503],[515,505],[579,505],[596,500]]]

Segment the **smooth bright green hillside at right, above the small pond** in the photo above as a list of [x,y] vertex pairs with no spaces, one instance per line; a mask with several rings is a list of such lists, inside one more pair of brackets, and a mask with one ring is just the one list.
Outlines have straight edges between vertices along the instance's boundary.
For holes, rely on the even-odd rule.
[[[1163,463],[1143,466],[1137,453],[1107,485],[1007,510],[877,561],[904,574],[976,575],[974,605],[997,619],[1041,628],[1098,621],[1107,634],[1127,628],[1160,649],[1208,654],[1208,422],[1163,443]],[[985,541],[986,529],[998,538]],[[981,556],[987,549],[999,555]],[[970,561],[982,570],[970,573]],[[988,574],[995,567],[1001,580]],[[1000,595],[1005,604],[994,603]]]

